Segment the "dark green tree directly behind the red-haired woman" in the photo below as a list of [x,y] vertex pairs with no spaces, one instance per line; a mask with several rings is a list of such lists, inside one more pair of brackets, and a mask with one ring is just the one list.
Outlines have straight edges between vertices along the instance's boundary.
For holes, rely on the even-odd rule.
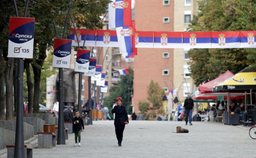
[[133,87],[133,70],[128,69],[130,74],[122,75],[120,78],[121,80],[115,85],[110,87],[109,89],[109,96],[104,98],[104,105],[108,106],[109,109],[112,109],[112,102],[116,101],[117,97],[122,97],[123,102],[122,104],[126,107],[126,110],[128,110],[128,114],[132,112],[132,108],[128,106],[128,102],[132,102],[132,98],[128,95],[130,95],[129,89]]

